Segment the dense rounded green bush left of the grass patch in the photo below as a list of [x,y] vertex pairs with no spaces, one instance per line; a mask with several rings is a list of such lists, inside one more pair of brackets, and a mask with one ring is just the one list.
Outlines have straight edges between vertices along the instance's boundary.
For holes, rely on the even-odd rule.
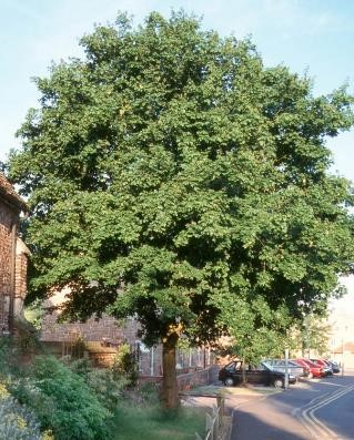
[[29,378],[12,388],[55,440],[109,438],[111,413],[84,380],[53,357],[37,358]]

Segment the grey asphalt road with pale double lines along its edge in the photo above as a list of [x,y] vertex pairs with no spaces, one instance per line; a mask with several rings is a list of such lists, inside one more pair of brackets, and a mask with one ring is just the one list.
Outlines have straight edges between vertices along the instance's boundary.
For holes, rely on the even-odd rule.
[[231,440],[354,440],[354,371],[229,406]]

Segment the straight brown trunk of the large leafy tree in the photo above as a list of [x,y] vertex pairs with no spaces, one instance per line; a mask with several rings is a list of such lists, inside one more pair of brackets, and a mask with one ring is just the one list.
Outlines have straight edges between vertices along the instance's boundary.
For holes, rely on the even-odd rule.
[[176,409],[180,406],[175,371],[175,347],[178,340],[178,335],[173,334],[162,344],[162,401],[168,409]]

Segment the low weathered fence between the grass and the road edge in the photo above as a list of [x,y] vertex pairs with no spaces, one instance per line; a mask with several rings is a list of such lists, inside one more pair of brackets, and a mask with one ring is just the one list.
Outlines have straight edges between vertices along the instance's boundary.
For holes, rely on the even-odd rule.
[[206,412],[205,437],[195,432],[195,440],[226,440],[231,428],[231,418],[225,416],[224,398],[218,397],[218,406],[212,407],[212,415]]

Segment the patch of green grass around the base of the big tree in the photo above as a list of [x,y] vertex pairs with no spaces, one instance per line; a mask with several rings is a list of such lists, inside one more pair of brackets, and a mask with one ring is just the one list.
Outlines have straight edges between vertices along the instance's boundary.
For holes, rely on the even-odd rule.
[[198,408],[181,408],[166,412],[158,405],[119,406],[114,440],[194,440],[204,432],[205,412]]

